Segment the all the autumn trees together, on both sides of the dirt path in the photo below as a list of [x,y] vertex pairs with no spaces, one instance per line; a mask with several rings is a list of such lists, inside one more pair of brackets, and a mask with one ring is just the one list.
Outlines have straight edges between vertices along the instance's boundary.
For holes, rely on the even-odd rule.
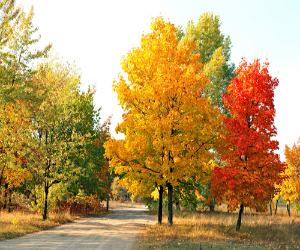
[[[152,20],[122,60],[114,81],[125,139],[110,138],[108,119],[100,125],[95,88],[80,91],[76,65],[37,50],[33,9],[0,2],[0,188],[1,207],[22,194],[47,218],[48,208],[104,200],[108,160],[134,195],[157,199],[162,222],[167,193],[173,203],[210,210],[226,203],[264,212],[282,196],[299,199],[299,148],[286,147],[286,163],[275,150],[274,89],[278,79],[268,63],[230,62],[231,40],[218,15],[204,13],[183,29],[162,17]],[[37,37],[37,38],[36,38]],[[94,205],[91,205],[94,204]]]

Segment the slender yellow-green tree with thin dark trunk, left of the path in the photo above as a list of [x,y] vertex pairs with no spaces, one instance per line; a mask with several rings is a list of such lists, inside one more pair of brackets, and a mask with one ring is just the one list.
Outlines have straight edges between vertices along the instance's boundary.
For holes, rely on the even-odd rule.
[[55,59],[39,65],[34,81],[44,86],[44,101],[35,111],[32,123],[31,172],[37,185],[43,186],[44,212],[47,218],[50,188],[76,176],[81,168],[70,160],[73,154],[81,155],[78,145],[83,145],[89,134],[82,134],[76,96],[80,86],[80,75],[75,68]]

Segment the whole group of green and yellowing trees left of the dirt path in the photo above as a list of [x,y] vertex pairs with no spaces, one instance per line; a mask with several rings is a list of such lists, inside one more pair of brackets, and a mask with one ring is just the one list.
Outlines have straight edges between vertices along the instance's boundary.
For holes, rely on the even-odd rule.
[[95,87],[82,92],[79,69],[53,55],[51,44],[36,49],[33,7],[25,13],[4,0],[0,15],[1,207],[10,210],[12,196],[23,194],[46,219],[49,205],[74,197],[100,202],[110,121],[99,123]]

